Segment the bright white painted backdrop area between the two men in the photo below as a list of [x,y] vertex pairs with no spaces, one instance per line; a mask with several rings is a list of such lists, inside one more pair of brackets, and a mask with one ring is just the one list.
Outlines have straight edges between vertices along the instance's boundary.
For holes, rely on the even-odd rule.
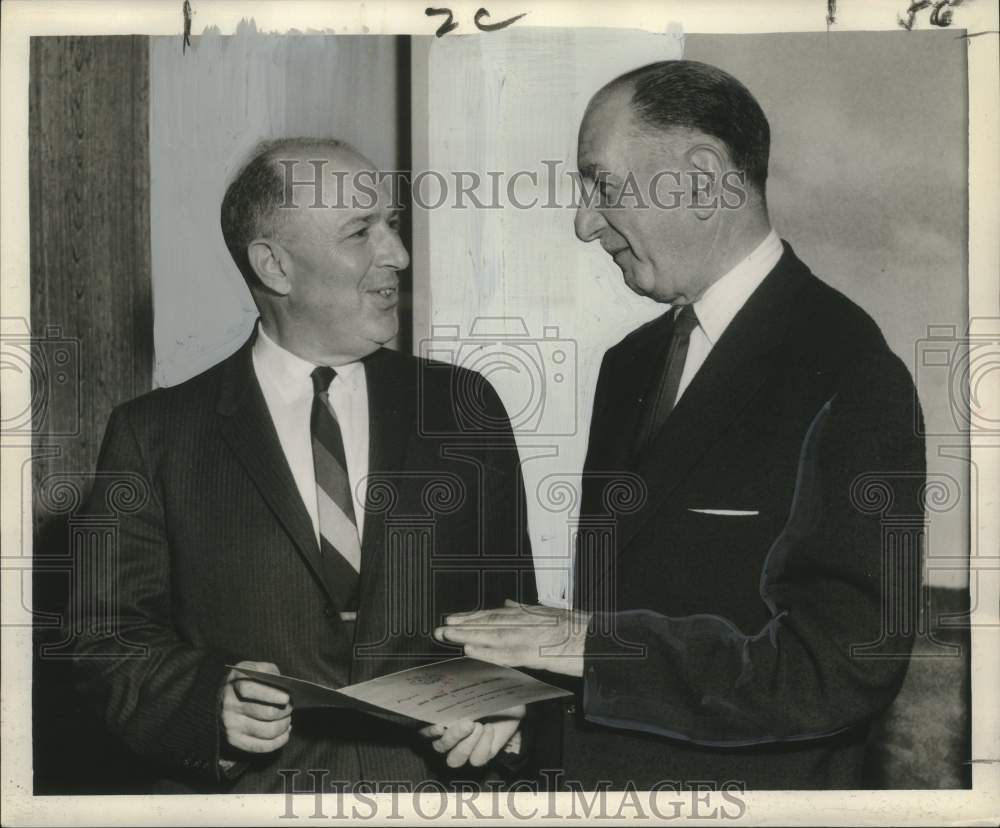
[[[481,370],[507,406],[547,603],[571,594],[572,498],[559,495],[578,492],[601,357],[664,308],[632,294],[596,243],[577,240],[572,209],[511,206],[506,177],[537,175],[537,186],[518,179],[521,203],[546,203],[551,184],[551,201],[569,203],[567,172],[576,168],[577,127],[591,95],[622,72],[681,53],[673,34],[599,29],[414,42],[414,169],[452,182],[456,171],[484,181],[498,171],[506,205],[415,208],[415,350]],[[426,200],[436,194],[428,182]],[[489,187],[481,201],[491,203]]]

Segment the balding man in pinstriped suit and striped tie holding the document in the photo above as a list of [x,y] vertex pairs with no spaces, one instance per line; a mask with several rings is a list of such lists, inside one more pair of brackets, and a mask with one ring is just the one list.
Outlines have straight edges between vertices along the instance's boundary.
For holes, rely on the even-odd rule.
[[136,508],[115,577],[81,596],[76,666],[154,791],[311,790],[307,771],[412,786],[467,762],[482,779],[516,752],[523,707],[463,723],[444,757],[440,733],[295,710],[231,669],[340,687],[456,655],[431,637],[448,613],[534,600],[502,403],[477,374],[385,347],[409,257],[378,180],[338,141],[260,147],[221,211],[258,325],[108,425],[90,509],[122,486]]

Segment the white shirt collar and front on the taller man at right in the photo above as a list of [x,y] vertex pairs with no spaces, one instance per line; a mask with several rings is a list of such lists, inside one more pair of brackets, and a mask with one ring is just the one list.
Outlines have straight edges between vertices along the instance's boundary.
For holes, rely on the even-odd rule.
[[[739,313],[747,299],[764,281],[781,258],[783,248],[778,234],[771,230],[764,240],[743,261],[721,279],[713,282],[701,298],[694,303],[698,327],[688,340],[687,359],[677,387],[677,399],[691,384],[698,369],[708,359],[715,343],[719,341],[733,317]],[[676,404],[676,400],[675,400]]]

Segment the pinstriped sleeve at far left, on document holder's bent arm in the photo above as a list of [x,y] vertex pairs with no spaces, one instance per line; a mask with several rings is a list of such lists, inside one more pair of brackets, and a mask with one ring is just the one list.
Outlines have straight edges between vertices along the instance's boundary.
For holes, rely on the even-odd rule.
[[239,657],[193,646],[172,623],[163,505],[127,410],[112,414],[85,506],[107,514],[115,498],[130,499],[116,513],[115,537],[76,562],[75,667],[84,694],[133,751],[218,780],[221,689]]

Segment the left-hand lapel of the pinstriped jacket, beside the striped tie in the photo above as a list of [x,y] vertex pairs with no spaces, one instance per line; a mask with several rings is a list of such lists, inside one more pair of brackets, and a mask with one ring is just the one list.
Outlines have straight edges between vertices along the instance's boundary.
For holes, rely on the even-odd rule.
[[332,602],[333,595],[322,576],[312,520],[299,495],[254,373],[254,338],[251,337],[223,366],[216,409],[220,415],[220,431]]

